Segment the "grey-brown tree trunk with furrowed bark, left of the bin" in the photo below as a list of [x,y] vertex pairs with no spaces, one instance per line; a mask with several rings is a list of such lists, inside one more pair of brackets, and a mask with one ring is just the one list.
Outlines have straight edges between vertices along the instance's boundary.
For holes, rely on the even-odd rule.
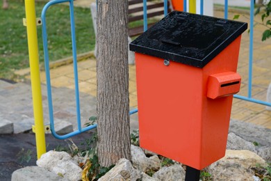
[[128,74],[128,1],[98,0],[97,132],[101,166],[131,160]]

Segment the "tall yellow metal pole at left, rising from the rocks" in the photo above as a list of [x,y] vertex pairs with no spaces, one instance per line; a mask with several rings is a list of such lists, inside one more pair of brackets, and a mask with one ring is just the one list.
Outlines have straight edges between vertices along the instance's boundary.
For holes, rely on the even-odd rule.
[[40,68],[38,57],[38,35],[35,17],[35,0],[25,0],[26,31],[28,40],[28,54],[31,70],[31,86],[33,112],[35,119],[35,141],[38,159],[46,152],[45,134],[42,113],[42,91],[40,87]]

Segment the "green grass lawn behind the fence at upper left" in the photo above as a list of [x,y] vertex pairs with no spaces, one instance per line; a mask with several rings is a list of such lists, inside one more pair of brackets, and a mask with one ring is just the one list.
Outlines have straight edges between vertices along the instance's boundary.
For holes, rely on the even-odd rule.
[[[2,6],[0,1],[0,8]],[[13,70],[29,67],[26,26],[23,0],[8,1],[8,10],[0,10],[0,78],[13,79]],[[35,3],[36,15],[40,17],[46,1]],[[89,8],[74,7],[76,23],[77,54],[89,52],[95,47],[95,33]],[[44,61],[42,29],[38,29],[40,63]],[[69,22],[69,6],[54,5],[47,10],[47,33],[50,61],[72,56],[72,40]]]

